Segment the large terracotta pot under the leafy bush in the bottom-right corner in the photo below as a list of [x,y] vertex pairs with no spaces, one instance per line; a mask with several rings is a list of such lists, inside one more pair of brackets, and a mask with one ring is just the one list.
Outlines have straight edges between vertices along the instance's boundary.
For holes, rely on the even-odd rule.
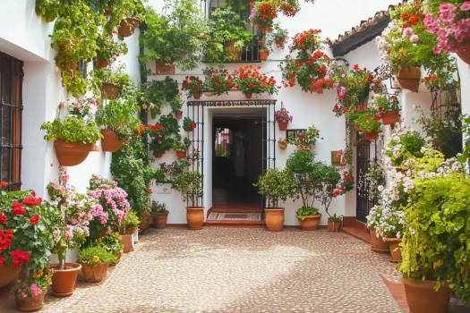
[[447,313],[449,312],[452,289],[440,286],[436,292],[437,282],[421,279],[401,278],[405,285],[405,294],[410,311],[413,313]]

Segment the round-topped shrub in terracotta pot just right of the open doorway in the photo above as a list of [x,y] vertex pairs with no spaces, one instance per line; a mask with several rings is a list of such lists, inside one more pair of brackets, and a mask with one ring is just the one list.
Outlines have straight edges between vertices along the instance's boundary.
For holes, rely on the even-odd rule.
[[259,188],[259,193],[269,199],[266,207],[266,226],[270,232],[280,232],[284,227],[284,207],[278,207],[279,200],[286,201],[292,193],[292,173],[288,169],[269,169],[253,186]]

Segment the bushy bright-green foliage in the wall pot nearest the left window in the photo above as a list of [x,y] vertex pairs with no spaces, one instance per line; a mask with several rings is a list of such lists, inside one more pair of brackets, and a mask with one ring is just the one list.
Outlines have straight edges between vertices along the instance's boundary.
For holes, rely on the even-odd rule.
[[54,122],[41,125],[46,131],[45,140],[64,140],[65,142],[95,143],[103,138],[98,126],[93,121],[84,121],[75,116],[67,116],[66,120],[56,118]]

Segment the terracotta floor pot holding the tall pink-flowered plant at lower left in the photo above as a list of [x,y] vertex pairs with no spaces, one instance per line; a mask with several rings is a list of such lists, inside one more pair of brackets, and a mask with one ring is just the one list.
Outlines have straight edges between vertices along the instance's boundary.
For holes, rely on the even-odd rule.
[[70,269],[58,269],[59,264],[51,264],[54,269],[52,276],[52,294],[56,297],[68,297],[73,295],[73,289],[77,282],[77,276],[81,270],[78,263],[65,263],[65,266],[72,266]]

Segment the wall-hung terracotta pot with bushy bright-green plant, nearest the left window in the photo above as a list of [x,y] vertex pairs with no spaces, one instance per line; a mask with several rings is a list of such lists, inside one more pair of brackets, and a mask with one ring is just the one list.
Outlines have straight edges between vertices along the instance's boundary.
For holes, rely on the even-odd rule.
[[45,140],[55,140],[56,156],[62,166],[81,164],[91,151],[98,151],[96,142],[103,137],[95,122],[70,115],[66,120],[56,118],[52,123],[43,123],[41,130],[46,131]]

